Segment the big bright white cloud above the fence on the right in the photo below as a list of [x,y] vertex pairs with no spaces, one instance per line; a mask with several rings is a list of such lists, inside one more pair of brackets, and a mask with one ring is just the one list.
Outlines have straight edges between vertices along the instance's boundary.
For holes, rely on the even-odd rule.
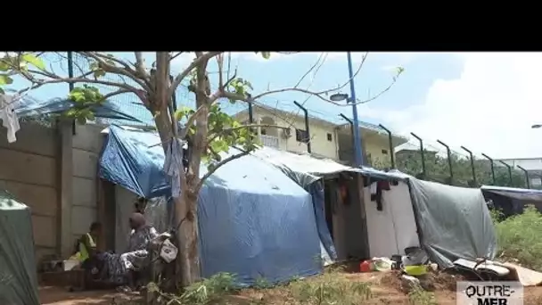
[[542,54],[459,54],[459,78],[436,79],[423,103],[381,113],[403,133],[414,131],[494,158],[542,157]]

